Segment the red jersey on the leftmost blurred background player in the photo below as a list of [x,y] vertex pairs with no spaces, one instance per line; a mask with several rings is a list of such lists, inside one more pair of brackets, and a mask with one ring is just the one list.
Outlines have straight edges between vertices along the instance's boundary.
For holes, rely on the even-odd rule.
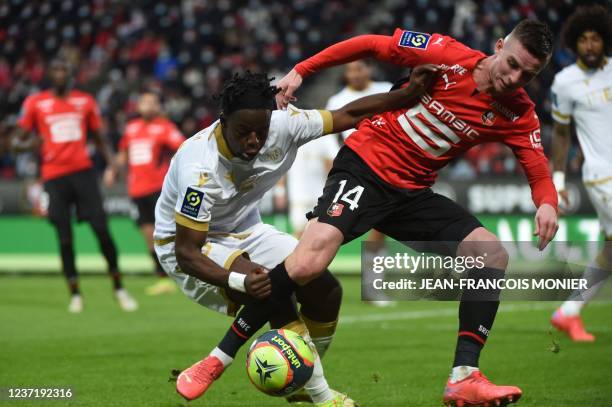
[[78,90],[63,98],[50,90],[35,93],[23,102],[18,124],[25,131],[37,131],[43,140],[43,181],[92,167],[87,130],[99,130],[102,119],[91,95]]

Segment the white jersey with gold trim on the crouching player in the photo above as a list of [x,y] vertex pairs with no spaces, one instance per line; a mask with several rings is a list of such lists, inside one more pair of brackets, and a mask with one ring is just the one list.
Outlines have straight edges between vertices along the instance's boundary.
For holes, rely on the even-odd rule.
[[155,239],[176,233],[176,223],[231,233],[261,221],[261,197],[289,170],[298,147],[331,132],[328,111],[272,112],[265,145],[251,161],[233,157],[216,121],[183,143],[172,159],[155,207]]

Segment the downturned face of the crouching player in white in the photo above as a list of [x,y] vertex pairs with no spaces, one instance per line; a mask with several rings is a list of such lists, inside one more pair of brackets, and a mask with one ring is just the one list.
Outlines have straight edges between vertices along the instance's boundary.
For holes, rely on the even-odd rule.
[[244,161],[253,160],[268,139],[268,109],[241,109],[224,117],[223,135],[231,152]]

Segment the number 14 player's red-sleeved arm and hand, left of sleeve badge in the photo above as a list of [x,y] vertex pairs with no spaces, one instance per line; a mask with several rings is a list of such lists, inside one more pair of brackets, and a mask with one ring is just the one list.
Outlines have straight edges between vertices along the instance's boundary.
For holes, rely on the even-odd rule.
[[295,102],[297,98],[294,93],[302,84],[303,78],[321,69],[368,57],[393,63],[388,52],[392,39],[393,37],[387,35],[359,35],[329,46],[305,59],[276,85],[280,88],[280,92],[276,94],[277,107],[285,109],[289,103]]

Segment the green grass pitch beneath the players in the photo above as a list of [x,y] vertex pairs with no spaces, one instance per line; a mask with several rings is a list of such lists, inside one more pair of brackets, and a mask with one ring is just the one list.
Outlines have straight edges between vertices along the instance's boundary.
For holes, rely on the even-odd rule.
[[[186,403],[168,382],[171,369],[203,357],[230,319],[181,293],[147,297],[153,278],[127,277],[140,310],[119,310],[105,277],[84,277],[85,311],[66,311],[57,277],[0,277],[0,387],[71,386],[70,402],[6,401],[15,406],[287,406],[255,390],[244,349],[200,400]],[[362,406],[437,406],[452,362],[457,303],[405,302],[380,309],[359,301],[359,280],[343,277],[344,303],[324,359],[328,381]],[[597,335],[574,344],[549,335],[556,303],[502,304],[481,368],[523,389],[519,406],[612,405],[612,303],[583,313]],[[552,339],[560,351],[549,350]]]

